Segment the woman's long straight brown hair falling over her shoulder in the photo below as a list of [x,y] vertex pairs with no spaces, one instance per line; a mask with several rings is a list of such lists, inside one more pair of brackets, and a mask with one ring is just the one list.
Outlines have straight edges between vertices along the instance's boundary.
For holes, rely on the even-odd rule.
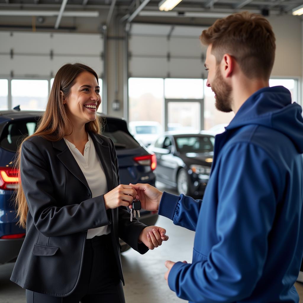
[[[54,83],[46,105],[46,110],[38,123],[38,127],[35,133],[31,136],[26,137],[18,147],[14,165],[15,168],[17,168],[19,171],[19,187],[15,195],[15,208],[17,212],[17,218],[19,218],[18,224],[23,228],[26,227],[28,205],[20,178],[22,144],[24,141],[33,136],[40,136],[49,141],[59,141],[65,135],[70,135],[73,132],[74,127],[66,114],[61,92],[63,92],[64,97],[68,97],[71,87],[74,85],[76,78],[81,72],[92,73],[99,83],[98,75],[92,68],[80,63],[63,65],[55,75]],[[100,133],[100,122],[101,121],[97,117],[95,121],[90,121],[85,124],[85,130],[94,133]]]

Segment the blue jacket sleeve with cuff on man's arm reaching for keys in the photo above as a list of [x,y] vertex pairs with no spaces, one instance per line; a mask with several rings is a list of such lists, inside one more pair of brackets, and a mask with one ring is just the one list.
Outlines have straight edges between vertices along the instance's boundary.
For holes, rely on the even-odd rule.
[[202,200],[163,192],[158,214],[173,220],[175,225],[195,231]]

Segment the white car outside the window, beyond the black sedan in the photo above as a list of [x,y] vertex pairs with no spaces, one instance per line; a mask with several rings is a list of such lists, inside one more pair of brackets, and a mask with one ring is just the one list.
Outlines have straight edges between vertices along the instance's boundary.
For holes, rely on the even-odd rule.
[[149,146],[163,132],[161,124],[155,121],[134,121],[128,126],[134,138],[145,146]]

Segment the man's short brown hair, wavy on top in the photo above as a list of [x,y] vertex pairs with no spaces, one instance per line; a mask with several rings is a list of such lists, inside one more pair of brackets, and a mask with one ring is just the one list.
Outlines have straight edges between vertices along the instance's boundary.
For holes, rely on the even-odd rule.
[[269,79],[275,60],[275,34],[268,20],[258,14],[241,12],[218,19],[200,36],[211,44],[217,64],[223,55],[235,58],[248,78]]

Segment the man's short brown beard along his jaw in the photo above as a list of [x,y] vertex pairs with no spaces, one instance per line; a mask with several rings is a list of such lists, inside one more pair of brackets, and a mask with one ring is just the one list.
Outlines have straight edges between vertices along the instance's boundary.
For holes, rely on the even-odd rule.
[[221,112],[231,112],[231,86],[224,81],[219,66],[216,70],[211,89],[216,94],[216,108]]

